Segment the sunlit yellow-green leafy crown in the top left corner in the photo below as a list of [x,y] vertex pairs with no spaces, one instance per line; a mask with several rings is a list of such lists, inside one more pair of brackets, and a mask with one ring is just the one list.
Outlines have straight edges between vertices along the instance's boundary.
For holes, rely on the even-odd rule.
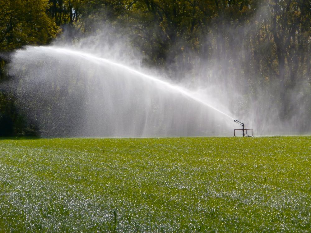
[[55,22],[45,14],[48,7],[48,0],[2,0],[0,51],[49,43],[59,31]]

